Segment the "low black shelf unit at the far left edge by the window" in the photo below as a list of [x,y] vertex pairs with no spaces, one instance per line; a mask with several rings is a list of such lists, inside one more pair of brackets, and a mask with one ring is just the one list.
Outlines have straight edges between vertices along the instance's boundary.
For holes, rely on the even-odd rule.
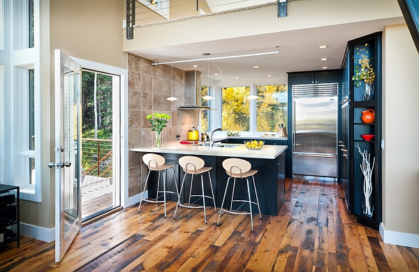
[[[12,193],[16,191],[15,195]],[[16,232],[13,232],[15,226]],[[0,247],[16,242],[20,247],[20,190],[18,186],[0,184]]]

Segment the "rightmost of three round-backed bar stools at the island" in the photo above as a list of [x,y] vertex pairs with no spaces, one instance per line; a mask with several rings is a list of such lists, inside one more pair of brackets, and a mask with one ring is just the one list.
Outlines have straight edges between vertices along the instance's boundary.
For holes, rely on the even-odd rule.
[[[219,225],[221,212],[226,211],[227,213],[233,213],[233,214],[250,214],[251,218],[251,231],[253,232],[253,216],[251,211],[251,204],[257,204],[259,209],[259,217],[262,219],[261,213],[260,213],[260,206],[259,206],[259,199],[258,199],[258,192],[256,191],[256,184],[255,184],[255,178],[254,174],[258,172],[258,170],[251,170],[251,163],[249,163],[247,160],[242,160],[239,158],[228,158],[223,161],[223,168],[226,169],[226,173],[228,174],[228,180],[226,185],[226,191],[224,192],[223,202],[221,202],[221,208],[219,210],[219,220],[216,222],[216,225]],[[253,188],[255,188],[255,195],[256,195],[256,202],[251,201],[250,197],[250,188],[249,188],[249,179],[247,179],[249,176],[251,176],[253,180]],[[223,209],[224,200],[226,200],[226,194],[228,189],[228,182],[231,178],[234,178],[233,182],[233,192],[231,195],[231,202],[230,202],[230,211]],[[247,181],[247,196],[249,197],[248,200],[242,200],[242,199],[234,199],[234,190],[235,190],[235,181],[236,178],[239,179],[246,179]],[[235,212],[232,211],[233,208],[233,202],[244,202],[249,203],[249,209],[250,212]]]

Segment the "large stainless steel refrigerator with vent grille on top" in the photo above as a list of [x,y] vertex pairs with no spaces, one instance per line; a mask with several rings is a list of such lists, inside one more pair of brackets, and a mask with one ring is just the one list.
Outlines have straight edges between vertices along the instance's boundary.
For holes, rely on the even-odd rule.
[[293,85],[293,174],[337,177],[337,89]]

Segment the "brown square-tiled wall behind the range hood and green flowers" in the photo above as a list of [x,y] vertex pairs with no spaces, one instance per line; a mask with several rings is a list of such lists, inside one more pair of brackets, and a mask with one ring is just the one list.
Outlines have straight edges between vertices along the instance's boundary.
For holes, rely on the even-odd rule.
[[[128,54],[128,144],[129,147],[154,144],[156,136],[145,119],[154,112],[169,114],[168,127],[163,129],[163,143],[175,141],[177,133],[186,139],[188,130],[198,126],[198,111],[179,111],[184,103],[184,71],[173,68],[173,96],[178,99],[170,102],[166,98],[172,94],[172,67],[153,66],[153,61],[134,54]],[[128,158],[128,197],[142,192],[147,177],[147,166],[142,163],[142,153],[130,152]]]

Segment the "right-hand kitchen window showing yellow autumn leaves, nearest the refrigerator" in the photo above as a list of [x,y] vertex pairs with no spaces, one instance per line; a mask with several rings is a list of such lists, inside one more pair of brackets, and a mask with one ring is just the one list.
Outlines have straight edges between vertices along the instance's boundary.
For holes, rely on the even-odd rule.
[[287,125],[288,85],[256,86],[258,106],[256,131],[277,132],[281,123]]

